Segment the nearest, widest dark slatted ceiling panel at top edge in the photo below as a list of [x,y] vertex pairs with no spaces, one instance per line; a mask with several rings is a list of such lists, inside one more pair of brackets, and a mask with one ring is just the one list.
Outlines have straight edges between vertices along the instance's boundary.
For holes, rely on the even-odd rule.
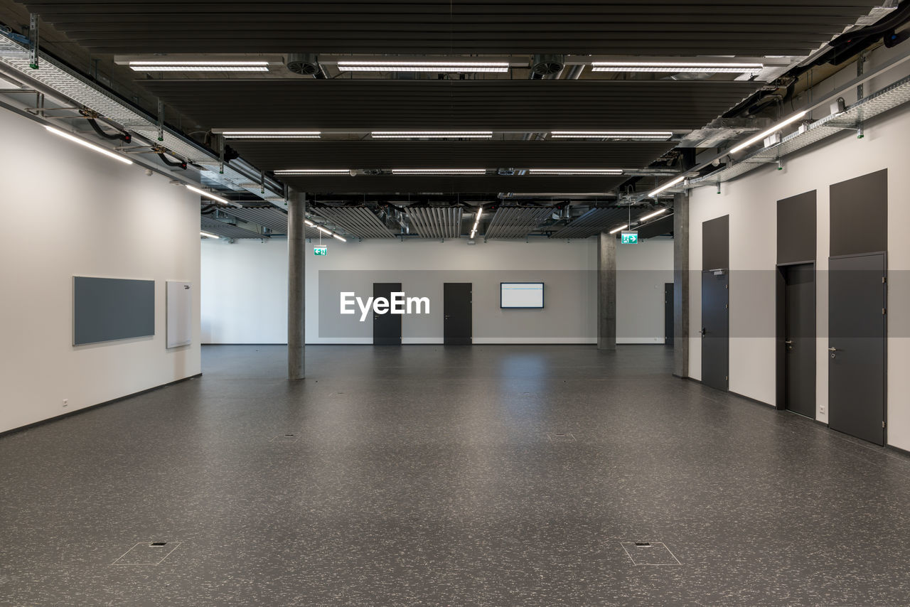
[[105,53],[806,55],[882,0],[25,4]]

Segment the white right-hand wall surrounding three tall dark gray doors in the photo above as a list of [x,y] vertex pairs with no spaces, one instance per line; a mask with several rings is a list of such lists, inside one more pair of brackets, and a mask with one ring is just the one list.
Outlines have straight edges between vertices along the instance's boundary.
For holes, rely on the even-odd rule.
[[[879,79],[881,81],[881,79]],[[866,92],[875,88],[867,86]],[[785,169],[763,167],[691,196],[690,268],[702,268],[702,222],[730,215],[730,389],[775,404],[774,278],[777,200],[817,191],[816,269],[816,419],[827,421],[828,362],[827,281],[829,255],[829,187],[846,179],[888,169],[888,442],[910,450],[910,107],[899,108],[865,125],[865,137],[854,131],[825,140],[818,147],[784,158]],[[744,270],[757,270],[747,272]],[[701,327],[701,286],[693,272],[690,325]],[[701,343],[691,338],[689,374],[701,379]],[[824,406],[824,412],[821,408]]]

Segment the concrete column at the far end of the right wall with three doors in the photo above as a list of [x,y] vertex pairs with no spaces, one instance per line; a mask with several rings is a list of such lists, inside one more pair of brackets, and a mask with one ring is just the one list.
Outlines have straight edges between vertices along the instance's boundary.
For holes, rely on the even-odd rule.
[[673,375],[689,377],[689,195],[673,197]]

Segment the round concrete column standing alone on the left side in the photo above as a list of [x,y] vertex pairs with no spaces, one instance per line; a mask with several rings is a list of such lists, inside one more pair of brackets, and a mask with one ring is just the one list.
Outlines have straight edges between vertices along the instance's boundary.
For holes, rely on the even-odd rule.
[[302,192],[288,195],[288,379],[303,379],[306,324],[307,238],[303,223],[307,198]]

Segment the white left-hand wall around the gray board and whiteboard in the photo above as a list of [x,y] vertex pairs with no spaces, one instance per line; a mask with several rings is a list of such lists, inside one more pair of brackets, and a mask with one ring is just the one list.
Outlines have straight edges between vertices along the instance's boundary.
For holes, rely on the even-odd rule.
[[[199,284],[198,198],[2,109],[0,132],[0,431],[197,374],[198,295],[168,350],[165,281]],[[74,347],[73,276],[154,279],[154,338]]]

